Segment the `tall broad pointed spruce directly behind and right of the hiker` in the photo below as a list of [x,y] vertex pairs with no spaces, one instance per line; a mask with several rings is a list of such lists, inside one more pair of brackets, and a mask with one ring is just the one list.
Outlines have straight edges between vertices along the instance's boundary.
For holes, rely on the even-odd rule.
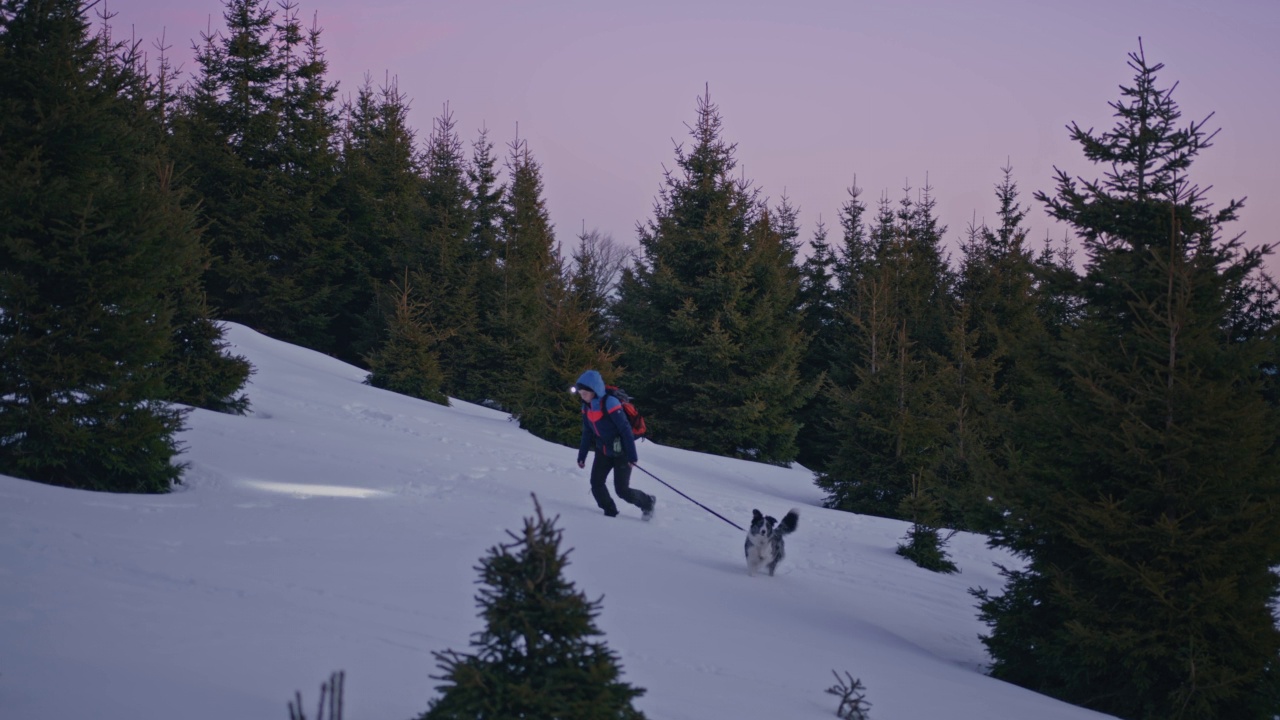
[[[733,170],[719,110],[699,99],[640,258],[620,284],[620,347],[655,439],[772,462],[795,459],[804,338],[795,247]],[[785,213],[783,213],[785,215]]]

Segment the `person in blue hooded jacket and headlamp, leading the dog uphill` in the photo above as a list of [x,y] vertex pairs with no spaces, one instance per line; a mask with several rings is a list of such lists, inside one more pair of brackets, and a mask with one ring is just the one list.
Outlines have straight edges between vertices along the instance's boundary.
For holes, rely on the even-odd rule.
[[636,441],[622,402],[605,395],[604,378],[595,370],[582,373],[573,389],[582,400],[582,441],[577,446],[577,466],[585,466],[586,451],[594,446],[591,496],[595,497],[595,503],[609,518],[618,514],[618,506],[604,486],[609,470],[613,470],[613,491],[618,497],[639,507],[645,520],[653,518],[653,506],[658,498],[631,487],[631,466],[640,459],[636,456]]

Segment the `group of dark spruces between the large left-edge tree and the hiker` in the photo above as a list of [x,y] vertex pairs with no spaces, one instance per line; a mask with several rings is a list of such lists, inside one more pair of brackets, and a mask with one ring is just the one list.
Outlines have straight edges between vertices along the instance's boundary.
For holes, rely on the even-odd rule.
[[465,142],[448,106],[420,141],[394,81],[338,102],[320,29],[298,14],[228,1],[193,77],[157,99],[201,197],[210,305],[378,387],[502,407],[570,442],[563,378],[612,372],[575,292],[607,243],[584,233],[576,264],[562,256],[525,141]]

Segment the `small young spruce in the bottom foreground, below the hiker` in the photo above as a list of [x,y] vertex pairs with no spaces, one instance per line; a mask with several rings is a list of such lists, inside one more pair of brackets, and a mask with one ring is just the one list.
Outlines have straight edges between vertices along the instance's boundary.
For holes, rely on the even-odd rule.
[[536,497],[534,509],[524,532],[508,532],[511,542],[490,548],[476,568],[485,629],[471,655],[433,653],[443,671],[433,678],[444,684],[421,720],[644,717],[632,701],[645,691],[621,682],[617,655],[593,639],[602,635],[602,601],[589,601],[564,578],[563,533]]

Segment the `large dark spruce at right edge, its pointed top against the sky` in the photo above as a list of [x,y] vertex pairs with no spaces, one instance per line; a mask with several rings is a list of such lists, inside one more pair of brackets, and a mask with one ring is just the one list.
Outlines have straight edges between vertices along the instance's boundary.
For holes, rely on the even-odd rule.
[[1240,204],[1213,211],[1188,179],[1207,119],[1179,127],[1162,65],[1139,49],[1130,67],[1114,129],[1070,126],[1105,179],[1059,172],[1037,195],[1084,242],[1084,305],[1056,348],[1059,401],[1027,414],[1043,441],[1001,488],[992,542],[1025,564],[975,593],[984,642],[996,676],[1121,717],[1270,719],[1275,338],[1229,332],[1268,249],[1221,237]]

